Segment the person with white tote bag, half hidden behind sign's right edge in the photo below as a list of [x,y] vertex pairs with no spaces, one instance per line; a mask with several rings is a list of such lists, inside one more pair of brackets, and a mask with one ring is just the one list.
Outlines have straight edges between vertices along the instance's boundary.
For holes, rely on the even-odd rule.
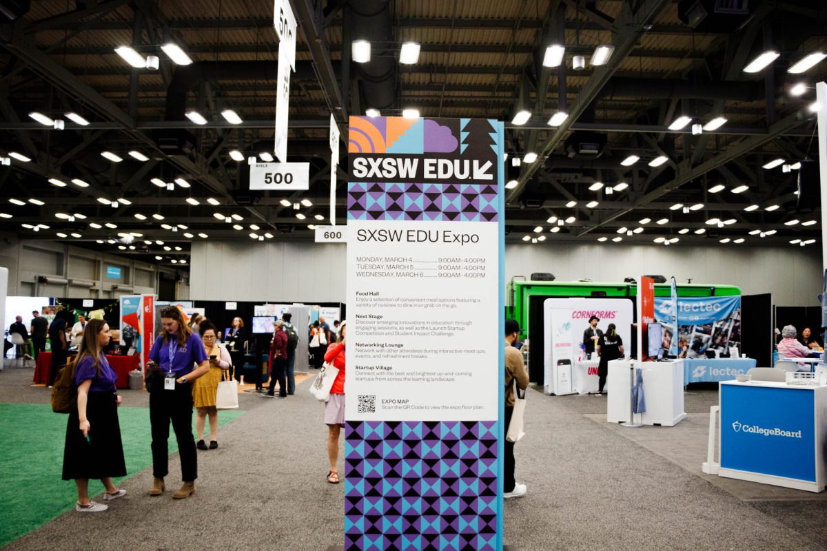
[[[514,430],[519,439],[522,432],[523,411],[525,399],[523,395],[522,405],[515,405],[514,390],[525,391],[528,388],[528,372],[523,363],[523,354],[515,349],[512,344],[519,337],[519,325],[514,320],[505,321],[505,416],[504,428],[511,432],[511,423],[514,422]],[[514,418],[517,418],[516,420]],[[514,421],[513,421],[514,420]],[[518,484],[514,478],[514,441],[505,439],[503,443],[503,492],[505,499],[524,496],[527,492],[525,484]]]

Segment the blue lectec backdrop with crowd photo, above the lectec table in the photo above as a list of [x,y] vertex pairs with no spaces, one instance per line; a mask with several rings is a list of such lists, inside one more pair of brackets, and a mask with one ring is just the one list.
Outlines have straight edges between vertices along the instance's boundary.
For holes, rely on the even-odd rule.
[[655,297],[655,319],[663,326],[662,347],[686,339],[687,358],[706,358],[706,352],[741,349],[741,297],[678,297],[678,330],[672,325],[668,297]]

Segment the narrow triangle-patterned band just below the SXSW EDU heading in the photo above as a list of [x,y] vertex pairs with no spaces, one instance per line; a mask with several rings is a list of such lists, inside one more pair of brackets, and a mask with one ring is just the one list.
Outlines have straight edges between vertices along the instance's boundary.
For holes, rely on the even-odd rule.
[[348,220],[499,221],[490,183],[347,183]]

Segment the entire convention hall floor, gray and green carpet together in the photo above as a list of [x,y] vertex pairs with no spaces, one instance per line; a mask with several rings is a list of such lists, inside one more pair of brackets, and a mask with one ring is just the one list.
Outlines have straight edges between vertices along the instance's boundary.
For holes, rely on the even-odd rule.
[[[30,368],[0,373],[0,545],[7,549],[324,551],[342,544],[344,484],[325,482],[326,429],[308,381],[285,400],[242,392],[241,411],[220,414],[220,447],[198,453],[198,492],[183,501],[171,499],[180,482],[177,454],[165,495],[146,494],[147,395],[123,391],[128,494],[105,513],[79,515],[69,511],[74,484],[60,480],[65,416],[50,412],[47,389],[31,387],[31,375]],[[528,435],[516,452],[528,495],[505,504],[505,543],[518,551],[827,549],[827,492],[700,473],[717,397],[714,389],[692,392],[688,419],[671,429],[609,425],[600,415],[605,398],[529,392]]]

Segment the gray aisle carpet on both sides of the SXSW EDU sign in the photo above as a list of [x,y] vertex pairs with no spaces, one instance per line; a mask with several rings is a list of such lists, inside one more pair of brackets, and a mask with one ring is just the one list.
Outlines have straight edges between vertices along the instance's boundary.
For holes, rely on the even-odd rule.
[[[26,374],[0,373],[0,401],[46,400]],[[342,544],[344,485],[324,482],[326,429],[307,385],[285,400],[241,394],[248,412],[222,429],[221,448],[199,453],[194,497],[173,501],[169,489],[146,496],[151,474],[137,473],[107,513],[67,513],[7,549]],[[146,406],[145,393],[124,394],[126,405]],[[514,549],[825,549],[824,501],[741,501],[584,415],[605,412],[605,398],[529,392],[528,400],[528,435],[516,452],[528,495],[505,506],[505,542]],[[171,473],[174,489],[179,478]]]

